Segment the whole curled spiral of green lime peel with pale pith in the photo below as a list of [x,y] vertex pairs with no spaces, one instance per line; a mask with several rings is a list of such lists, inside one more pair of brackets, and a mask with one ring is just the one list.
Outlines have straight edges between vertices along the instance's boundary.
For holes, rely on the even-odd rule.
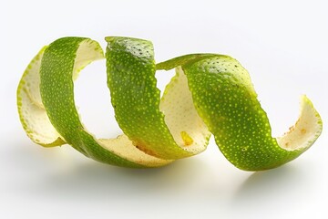
[[[98,162],[158,167],[204,151],[210,134],[236,167],[261,171],[297,158],[323,129],[302,96],[301,115],[280,138],[261,109],[249,73],[232,57],[191,54],[156,65],[151,42],[106,37],[106,55],[94,40],[63,37],[44,47],[26,68],[17,106],[27,136],[37,144],[70,144]],[[107,60],[108,88],[124,134],[97,139],[79,120],[74,80],[89,63]],[[156,70],[176,68],[160,97]]]

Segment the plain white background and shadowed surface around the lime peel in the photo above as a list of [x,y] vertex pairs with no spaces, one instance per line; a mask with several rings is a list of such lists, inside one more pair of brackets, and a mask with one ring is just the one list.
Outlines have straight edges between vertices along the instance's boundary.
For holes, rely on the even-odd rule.
[[[69,146],[30,141],[15,89],[36,52],[61,36],[153,42],[157,61],[211,52],[250,71],[280,135],[307,94],[327,122],[327,1],[15,1],[0,3],[0,218],[328,218],[326,130],[309,151],[281,168],[243,172],[210,142],[198,156],[154,170],[97,163]],[[160,71],[159,88],[171,72]],[[77,79],[82,119],[97,137],[115,137],[105,61]]]

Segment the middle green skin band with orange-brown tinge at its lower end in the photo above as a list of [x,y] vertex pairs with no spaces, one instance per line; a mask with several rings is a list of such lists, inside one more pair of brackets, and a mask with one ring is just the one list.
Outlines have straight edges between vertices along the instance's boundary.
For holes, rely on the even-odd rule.
[[108,88],[119,127],[150,155],[179,159],[193,155],[174,141],[159,110],[152,44],[128,37],[107,37]]

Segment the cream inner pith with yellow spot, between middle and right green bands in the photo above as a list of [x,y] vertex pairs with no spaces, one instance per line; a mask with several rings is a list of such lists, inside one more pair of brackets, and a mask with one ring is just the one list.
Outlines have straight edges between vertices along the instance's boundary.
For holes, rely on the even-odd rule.
[[210,131],[194,107],[182,68],[176,68],[176,76],[166,87],[159,108],[165,115],[170,133],[181,148],[194,154],[206,149]]

